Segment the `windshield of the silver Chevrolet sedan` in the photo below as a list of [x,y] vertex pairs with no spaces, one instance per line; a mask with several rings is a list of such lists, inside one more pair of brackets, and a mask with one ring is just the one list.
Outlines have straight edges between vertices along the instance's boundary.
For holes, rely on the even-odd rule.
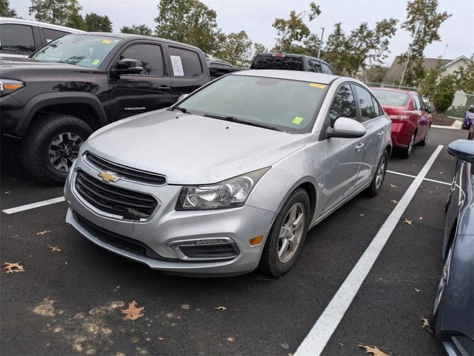
[[199,115],[236,118],[282,131],[303,133],[327,85],[278,78],[229,75],[189,96],[180,108]]

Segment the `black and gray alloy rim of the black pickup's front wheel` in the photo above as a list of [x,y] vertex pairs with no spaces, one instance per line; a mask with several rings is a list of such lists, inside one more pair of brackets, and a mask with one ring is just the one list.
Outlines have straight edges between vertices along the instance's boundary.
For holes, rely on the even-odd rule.
[[49,162],[60,172],[69,172],[83,139],[75,132],[58,134],[49,145]]

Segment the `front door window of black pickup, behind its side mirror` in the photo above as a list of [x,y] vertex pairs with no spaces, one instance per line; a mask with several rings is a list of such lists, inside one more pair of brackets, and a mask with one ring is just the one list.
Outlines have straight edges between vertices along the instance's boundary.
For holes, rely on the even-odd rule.
[[143,70],[138,75],[163,76],[163,56],[160,45],[132,45],[122,52],[119,61],[123,58],[141,62]]

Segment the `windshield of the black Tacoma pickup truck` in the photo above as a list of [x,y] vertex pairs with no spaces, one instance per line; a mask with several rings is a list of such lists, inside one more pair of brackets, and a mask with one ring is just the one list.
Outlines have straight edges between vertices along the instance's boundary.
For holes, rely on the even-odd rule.
[[70,34],[51,41],[33,53],[30,58],[98,68],[120,40],[120,38],[109,36]]

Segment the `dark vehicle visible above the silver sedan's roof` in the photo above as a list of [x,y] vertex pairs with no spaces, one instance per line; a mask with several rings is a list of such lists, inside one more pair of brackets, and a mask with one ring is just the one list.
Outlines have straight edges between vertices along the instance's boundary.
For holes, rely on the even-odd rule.
[[319,58],[288,53],[259,53],[250,69],[287,69],[334,74],[333,69]]

